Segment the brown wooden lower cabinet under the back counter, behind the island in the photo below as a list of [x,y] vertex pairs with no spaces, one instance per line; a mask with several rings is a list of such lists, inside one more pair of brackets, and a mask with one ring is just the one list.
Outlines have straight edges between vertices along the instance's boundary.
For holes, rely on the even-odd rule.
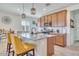
[[65,44],[65,35],[57,35],[56,38],[55,38],[55,44],[56,45],[59,45],[59,46],[66,46]]

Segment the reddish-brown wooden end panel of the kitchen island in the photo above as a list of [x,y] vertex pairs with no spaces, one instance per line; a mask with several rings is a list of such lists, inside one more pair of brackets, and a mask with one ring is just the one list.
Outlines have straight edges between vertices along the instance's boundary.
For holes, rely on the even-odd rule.
[[51,56],[54,54],[54,40],[55,37],[49,37],[47,39],[47,55]]

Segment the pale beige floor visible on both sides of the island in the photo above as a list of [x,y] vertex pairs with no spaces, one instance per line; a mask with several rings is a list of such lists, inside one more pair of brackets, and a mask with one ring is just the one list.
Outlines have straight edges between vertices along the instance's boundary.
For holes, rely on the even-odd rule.
[[[0,35],[1,37],[1,35]],[[0,40],[0,56],[7,56],[6,53],[6,39],[5,35],[2,35]],[[54,46],[54,55],[53,56],[79,56],[79,42],[75,43],[71,47],[60,47]]]

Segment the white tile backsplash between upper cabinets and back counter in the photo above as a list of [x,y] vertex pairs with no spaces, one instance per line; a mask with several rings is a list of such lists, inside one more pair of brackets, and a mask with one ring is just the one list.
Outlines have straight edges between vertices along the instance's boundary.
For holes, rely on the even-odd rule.
[[51,31],[53,33],[66,33],[67,28],[66,27],[37,27],[38,32],[42,31]]

